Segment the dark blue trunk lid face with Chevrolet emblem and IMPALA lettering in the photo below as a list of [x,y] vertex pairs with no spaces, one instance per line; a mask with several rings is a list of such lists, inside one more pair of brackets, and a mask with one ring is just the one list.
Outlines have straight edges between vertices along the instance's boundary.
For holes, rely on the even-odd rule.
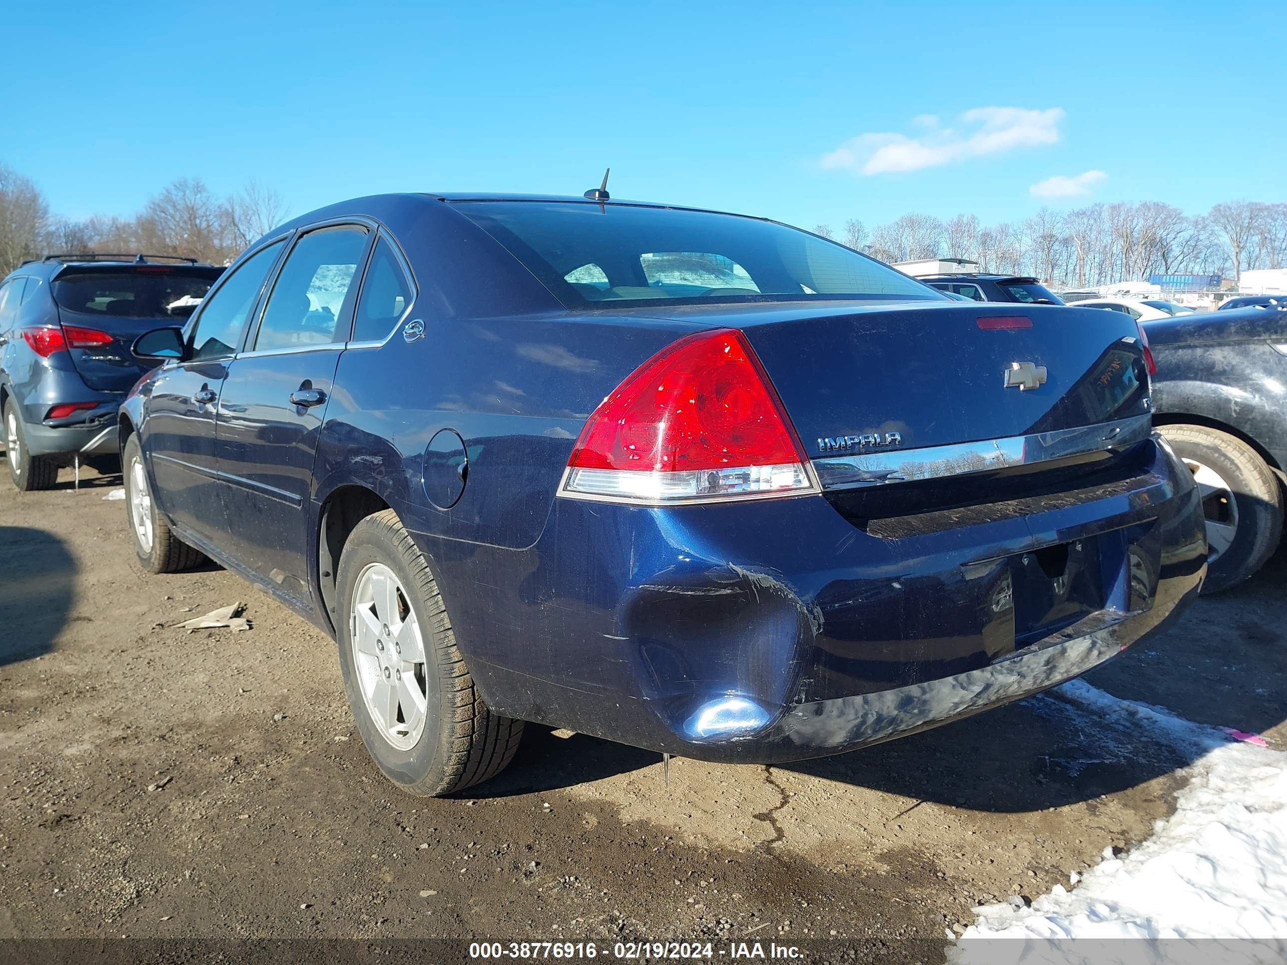
[[736,324],[811,458],[1053,432],[1149,410],[1139,331],[1117,311],[907,304]]

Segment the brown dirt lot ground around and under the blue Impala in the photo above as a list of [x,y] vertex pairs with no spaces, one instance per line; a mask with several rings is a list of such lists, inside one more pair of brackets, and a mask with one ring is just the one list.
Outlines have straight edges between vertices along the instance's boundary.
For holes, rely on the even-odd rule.
[[[3,471],[3,470],[0,470]],[[216,566],[133,564],[118,477],[0,488],[0,937],[821,938],[923,957],[1068,883],[1184,760],[1042,696],[790,767],[529,727],[475,798],[368,763],[320,633]],[[1287,555],[1090,681],[1287,740]],[[254,629],[172,624],[234,601]]]

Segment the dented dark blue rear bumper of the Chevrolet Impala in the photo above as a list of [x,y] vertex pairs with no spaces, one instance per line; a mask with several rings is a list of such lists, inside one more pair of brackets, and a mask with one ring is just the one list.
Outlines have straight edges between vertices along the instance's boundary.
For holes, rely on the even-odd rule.
[[[417,539],[499,713],[685,757],[803,759],[1045,690],[1180,612],[1206,573],[1201,507],[1144,445],[1126,482],[894,537],[801,497],[557,501],[528,551]],[[1022,567],[1049,547],[1069,547],[1081,570],[1059,585],[1094,605],[1055,600],[1033,621]]]

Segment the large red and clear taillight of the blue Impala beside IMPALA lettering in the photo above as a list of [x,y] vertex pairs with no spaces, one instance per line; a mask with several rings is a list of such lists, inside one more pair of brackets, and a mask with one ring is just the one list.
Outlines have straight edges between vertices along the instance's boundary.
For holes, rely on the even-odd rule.
[[681,338],[591,414],[565,495],[627,502],[792,495],[815,489],[807,457],[741,332]]

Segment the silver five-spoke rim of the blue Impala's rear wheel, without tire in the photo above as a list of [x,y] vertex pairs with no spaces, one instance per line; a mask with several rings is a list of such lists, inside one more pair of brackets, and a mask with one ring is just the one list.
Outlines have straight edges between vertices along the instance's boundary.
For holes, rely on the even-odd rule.
[[429,706],[425,639],[407,592],[384,564],[358,574],[349,612],[349,639],[367,713],[398,750],[411,750],[425,731]]

